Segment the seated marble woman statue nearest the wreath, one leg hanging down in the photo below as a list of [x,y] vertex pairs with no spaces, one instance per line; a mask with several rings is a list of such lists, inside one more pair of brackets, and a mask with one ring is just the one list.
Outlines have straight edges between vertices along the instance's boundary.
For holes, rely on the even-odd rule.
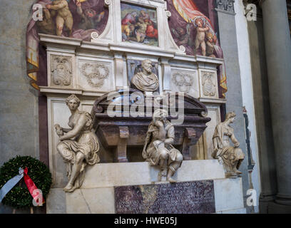
[[[73,192],[81,187],[86,165],[94,165],[100,161],[97,154],[99,150],[98,138],[91,131],[92,118],[87,112],[78,110],[80,100],[72,94],[66,98],[66,105],[71,111],[68,125],[71,127],[61,128],[56,124],[56,134],[61,142],[57,145],[57,150],[66,162],[68,185],[63,189],[65,192]],[[63,135],[63,133],[66,133]]]

